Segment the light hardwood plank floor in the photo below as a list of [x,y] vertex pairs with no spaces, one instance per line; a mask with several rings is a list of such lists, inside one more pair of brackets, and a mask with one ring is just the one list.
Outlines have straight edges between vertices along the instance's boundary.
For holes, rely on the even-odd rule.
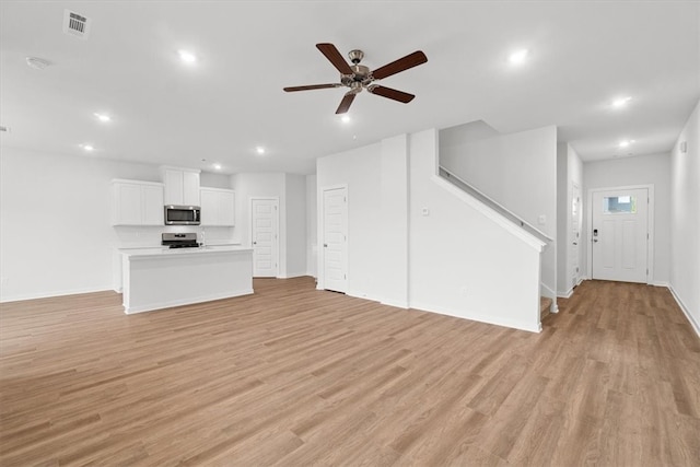
[[700,465],[700,339],[666,289],[586,281],[541,334],[255,290],[2,304],[0,465]]

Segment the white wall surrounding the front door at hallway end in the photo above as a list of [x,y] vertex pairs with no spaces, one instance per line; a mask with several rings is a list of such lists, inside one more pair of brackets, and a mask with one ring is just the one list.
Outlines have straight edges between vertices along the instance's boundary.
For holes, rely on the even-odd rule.
[[[616,186],[654,186],[654,257],[650,282],[666,285],[670,279],[670,157],[668,154],[639,155],[583,164],[584,197],[593,188]],[[588,258],[591,242],[588,208],[584,217],[583,247]],[[587,265],[591,277],[591,265]]]

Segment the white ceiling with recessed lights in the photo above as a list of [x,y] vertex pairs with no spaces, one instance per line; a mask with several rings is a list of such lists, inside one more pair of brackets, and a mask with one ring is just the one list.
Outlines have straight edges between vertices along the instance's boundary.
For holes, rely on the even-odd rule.
[[[698,1],[2,1],[2,148],[200,167],[313,173],[315,159],[382,138],[483,120],[501,132],[559,128],[584,161],[668,152],[700,98]],[[63,34],[63,10],[91,21]],[[428,63],[362,93],[316,49],[360,48],[376,69]],[[530,59],[513,68],[517,48]],[[199,56],[185,66],[180,48]],[[51,65],[30,68],[26,57]],[[610,102],[631,96],[625,109]],[[101,124],[94,113],[108,113]],[[620,140],[635,142],[626,150]],[[256,155],[264,145],[267,153]],[[206,162],[201,160],[206,159]]]

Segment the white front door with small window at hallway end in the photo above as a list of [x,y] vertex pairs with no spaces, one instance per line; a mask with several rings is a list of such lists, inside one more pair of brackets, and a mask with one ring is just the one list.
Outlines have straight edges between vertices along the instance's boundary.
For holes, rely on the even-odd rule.
[[646,283],[649,190],[594,191],[593,279]]

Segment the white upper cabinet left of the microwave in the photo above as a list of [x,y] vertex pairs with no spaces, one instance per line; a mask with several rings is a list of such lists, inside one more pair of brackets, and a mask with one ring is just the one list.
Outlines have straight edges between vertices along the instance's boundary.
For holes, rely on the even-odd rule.
[[112,225],[164,225],[163,184],[112,180]]

